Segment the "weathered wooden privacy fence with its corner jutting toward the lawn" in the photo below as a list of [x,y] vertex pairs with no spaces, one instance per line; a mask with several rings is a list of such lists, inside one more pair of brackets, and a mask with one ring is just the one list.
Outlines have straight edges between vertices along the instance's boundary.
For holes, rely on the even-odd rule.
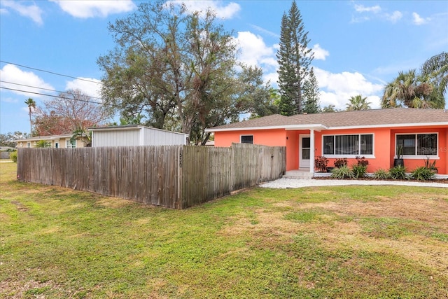
[[185,209],[278,179],[286,148],[233,144],[20,148],[18,179]]

